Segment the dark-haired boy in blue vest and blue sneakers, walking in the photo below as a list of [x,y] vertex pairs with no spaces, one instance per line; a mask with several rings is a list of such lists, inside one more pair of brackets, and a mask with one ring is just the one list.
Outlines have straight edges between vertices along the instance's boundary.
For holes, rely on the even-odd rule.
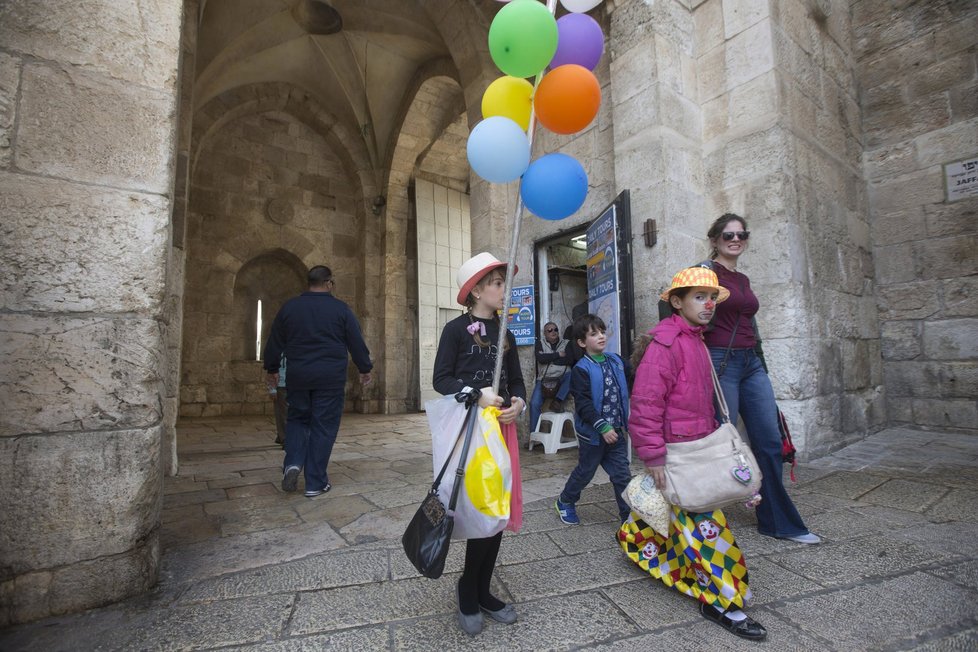
[[632,479],[628,468],[628,384],[625,363],[614,353],[605,353],[607,327],[597,315],[574,321],[573,337],[584,349],[574,365],[571,393],[574,395],[574,427],[577,429],[577,466],[567,478],[555,506],[560,520],[577,525],[575,507],[581,491],[594,478],[598,465],[608,473],[615,488],[618,515],[624,522],[630,508],[622,492]]

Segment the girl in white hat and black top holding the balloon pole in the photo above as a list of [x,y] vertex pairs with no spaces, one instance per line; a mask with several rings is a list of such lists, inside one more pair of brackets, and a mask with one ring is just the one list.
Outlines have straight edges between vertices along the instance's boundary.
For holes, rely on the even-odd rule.
[[[518,531],[523,520],[523,492],[519,473],[516,418],[526,409],[526,387],[516,354],[516,339],[506,334],[502,378],[498,393],[492,390],[499,341],[499,311],[506,305],[506,263],[483,252],[465,261],[458,270],[458,302],[466,313],[445,324],[438,342],[432,384],[435,391],[461,397],[479,396],[479,407],[494,405],[502,411],[499,425],[512,463],[513,486],[510,520],[506,529]],[[516,269],[514,268],[514,272]],[[502,532],[485,539],[469,539],[465,566],[458,582],[458,619],[474,636],[482,631],[483,613],[501,623],[516,622],[516,610],[489,592]]]

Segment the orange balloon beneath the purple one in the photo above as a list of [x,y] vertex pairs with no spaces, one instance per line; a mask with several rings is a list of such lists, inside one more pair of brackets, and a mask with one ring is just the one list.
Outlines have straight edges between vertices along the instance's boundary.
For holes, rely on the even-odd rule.
[[584,66],[572,63],[544,75],[533,96],[540,124],[558,134],[573,134],[588,126],[600,106],[598,78]]

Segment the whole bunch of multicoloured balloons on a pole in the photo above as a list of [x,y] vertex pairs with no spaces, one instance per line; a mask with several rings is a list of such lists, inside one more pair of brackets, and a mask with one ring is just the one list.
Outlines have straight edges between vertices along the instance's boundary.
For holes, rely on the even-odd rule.
[[[555,20],[537,0],[508,4],[489,26],[489,53],[505,74],[482,96],[483,120],[466,147],[469,165],[491,183],[523,177],[520,195],[535,215],[560,220],[576,213],[587,197],[587,173],[572,156],[546,154],[530,162],[527,130],[536,113],[558,134],[581,131],[601,106],[594,73],[604,52],[601,26],[584,14],[601,0],[560,0],[569,12]],[[526,80],[549,69],[537,84]]]

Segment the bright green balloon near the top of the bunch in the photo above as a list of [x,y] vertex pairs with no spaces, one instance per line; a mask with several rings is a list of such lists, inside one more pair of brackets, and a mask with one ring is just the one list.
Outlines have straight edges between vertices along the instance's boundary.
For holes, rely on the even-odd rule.
[[532,77],[557,52],[557,21],[536,0],[513,0],[489,26],[489,54],[507,75]]

